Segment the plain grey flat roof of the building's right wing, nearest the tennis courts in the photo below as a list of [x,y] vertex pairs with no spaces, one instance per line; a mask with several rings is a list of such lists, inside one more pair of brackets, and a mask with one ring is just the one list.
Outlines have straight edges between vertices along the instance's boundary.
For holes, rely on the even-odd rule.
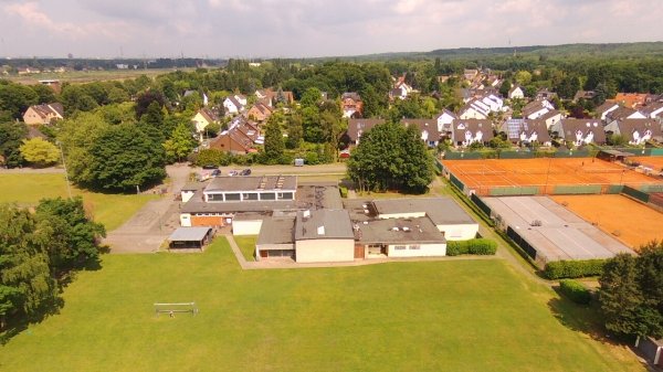
[[435,225],[476,223],[449,198],[377,199],[372,206],[378,214],[424,213]]

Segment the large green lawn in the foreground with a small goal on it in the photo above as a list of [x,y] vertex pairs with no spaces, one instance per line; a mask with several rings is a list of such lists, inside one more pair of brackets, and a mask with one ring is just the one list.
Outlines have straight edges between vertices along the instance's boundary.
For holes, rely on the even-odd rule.
[[[202,254],[106,255],[63,296],[0,347],[0,370],[644,371],[498,259],[243,272],[221,237]],[[157,318],[155,301],[200,313]]]

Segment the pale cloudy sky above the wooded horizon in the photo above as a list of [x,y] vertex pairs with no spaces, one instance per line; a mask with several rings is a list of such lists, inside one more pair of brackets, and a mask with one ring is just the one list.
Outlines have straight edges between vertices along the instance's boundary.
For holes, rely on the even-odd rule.
[[0,0],[0,55],[275,57],[663,41],[662,0]]

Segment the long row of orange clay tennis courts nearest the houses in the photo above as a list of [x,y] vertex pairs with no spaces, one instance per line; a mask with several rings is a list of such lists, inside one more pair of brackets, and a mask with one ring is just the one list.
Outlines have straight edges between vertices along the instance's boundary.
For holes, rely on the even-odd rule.
[[480,195],[499,187],[533,187],[538,188],[538,194],[551,194],[558,185],[663,184],[662,180],[596,158],[443,160],[442,164]]

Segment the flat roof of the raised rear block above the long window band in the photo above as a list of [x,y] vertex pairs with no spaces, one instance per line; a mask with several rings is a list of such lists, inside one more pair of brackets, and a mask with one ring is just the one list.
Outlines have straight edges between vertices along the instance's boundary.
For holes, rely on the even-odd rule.
[[204,191],[293,191],[296,188],[296,176],[217,177],[204,188]]

